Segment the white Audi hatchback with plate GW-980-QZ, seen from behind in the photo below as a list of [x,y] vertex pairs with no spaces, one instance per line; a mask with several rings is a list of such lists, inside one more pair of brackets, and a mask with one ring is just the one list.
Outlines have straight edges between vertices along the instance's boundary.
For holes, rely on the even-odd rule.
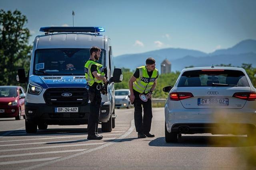
[[181,134],[256,137],[256,88],[243,68],[194,67],[180,73],[164,106],[165,140]]

